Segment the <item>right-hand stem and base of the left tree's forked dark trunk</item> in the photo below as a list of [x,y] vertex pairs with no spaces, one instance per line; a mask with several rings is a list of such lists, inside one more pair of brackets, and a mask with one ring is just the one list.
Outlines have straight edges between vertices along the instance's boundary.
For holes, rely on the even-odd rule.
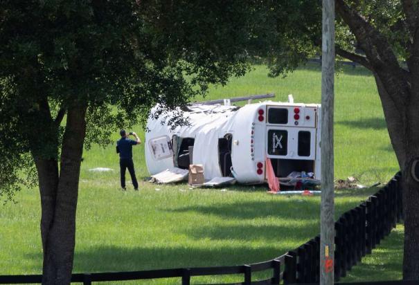
[[68,111],[55,205],[42,203],[43,213],[53,213],[53,221],[50,223],[44,242],[42,284],[70,284],[71,282],[75,247],[75,211],[86,132],[85,114],[86,107],[75,107]]

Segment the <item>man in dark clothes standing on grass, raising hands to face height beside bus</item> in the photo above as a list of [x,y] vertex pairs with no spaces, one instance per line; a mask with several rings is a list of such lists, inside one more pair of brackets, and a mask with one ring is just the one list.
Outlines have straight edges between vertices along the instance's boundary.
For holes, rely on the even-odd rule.
[[[116,153],[119,154],[119,166],[121,168],[121,187],[125,191],[125,169],[128,168],[128,171],[131,175],[132,185],[134,185],[134,190],[139,190],[139,183],[136,181],[134,162],[132,161],[132,146],[141,143],[139,136],[137,136],[134,131],[130,134],[127,134],[124,129],[121,129],[119,132],[121,135],[121,140],[116,142]],[[133,135],[136,140],[130,140],[128,136]]]

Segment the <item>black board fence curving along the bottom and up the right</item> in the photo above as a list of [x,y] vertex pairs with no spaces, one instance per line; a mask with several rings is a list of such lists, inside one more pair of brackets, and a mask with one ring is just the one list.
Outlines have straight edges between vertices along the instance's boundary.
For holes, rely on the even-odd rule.
[[[386,235],[389,235],[391,229],[402,219],[402,215],[400,173],[359,206],[342,214],[335,223],[335,280],[339,281],[340,277],[346,276],[347,270],[350,270],[366,254],[371,253],[371,250]],[[240,274],[243,275],[243,282],[233,284],[316,284],[319,282],[319,261],[320,237],[317,236],[285,255],[258,264],[73,274],[71,282],[91,284],[92,282],[177,277],[181,279],[182,285],[188,285],[191,277],[194,276]],[[253,273],[265,270],[271,270],[272,277],[256,281]],[[41,281],[42,275],[0,276],[0,284],[39,284]],[[407,285],[409,283],[389,284]]]

